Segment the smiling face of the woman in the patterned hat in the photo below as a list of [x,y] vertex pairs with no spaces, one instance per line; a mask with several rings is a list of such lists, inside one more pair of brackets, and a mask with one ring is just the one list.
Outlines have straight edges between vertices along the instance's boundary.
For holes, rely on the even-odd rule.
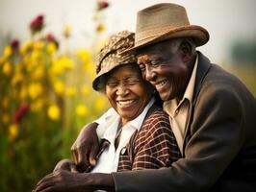
[[106,95],[122,123],[139,116],[152,96],[152,87],[142,80],[138,64],[123,64],[112,70],[106,82]]

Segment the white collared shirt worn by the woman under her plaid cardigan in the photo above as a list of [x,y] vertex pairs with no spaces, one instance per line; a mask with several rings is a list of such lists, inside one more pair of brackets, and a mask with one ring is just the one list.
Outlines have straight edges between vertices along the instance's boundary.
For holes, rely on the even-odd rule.
[[103,118],[96,121],[99,123],[97,128],[98,135],[102,134],[101,138],[107,139],[110,142],[110,146],[101,154],[96,166],[91,170],[91,172],[112,173],[117,171],[120,153],[125,152],[125,146],[128,144],[132,134],[136,130],[140,131],[146,113],[154,103],[155,99],[152,98],[137,118],[127,122],[121,128],[122,132],[120,134],[120,141],[116,150],[115,137],[120,116],[115,112],[115,109],[112,108],[107,111],[107,114],[104,114]]

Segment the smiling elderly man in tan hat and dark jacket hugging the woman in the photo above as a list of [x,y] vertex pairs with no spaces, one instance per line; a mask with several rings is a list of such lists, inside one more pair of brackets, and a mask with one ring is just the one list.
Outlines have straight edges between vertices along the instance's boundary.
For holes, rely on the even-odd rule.
[[[256,191],[255,98],[195,50],[208,40],[207,30],[191,25],[181,6],[157,4],[138,12],[135,47],[129,51],[136,51],[143,78],[164,101],[182,158],[158,170],[103,174],[97,180],[87,175],[85,189]],[[78,164],[83,156],[93,163],[95,143],[92,124],[73,146]]]

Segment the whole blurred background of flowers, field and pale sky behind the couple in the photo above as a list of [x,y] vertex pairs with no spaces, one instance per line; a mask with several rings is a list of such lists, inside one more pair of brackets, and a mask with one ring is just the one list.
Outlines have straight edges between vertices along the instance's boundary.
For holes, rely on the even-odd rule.
[[[109,107],[92,91],[106,38],[135,31],[158,0],[0,0],[0,191],[31,191],[81,128]],[[256,96],[256,1],[173,0],[210,41],[199,47]]]

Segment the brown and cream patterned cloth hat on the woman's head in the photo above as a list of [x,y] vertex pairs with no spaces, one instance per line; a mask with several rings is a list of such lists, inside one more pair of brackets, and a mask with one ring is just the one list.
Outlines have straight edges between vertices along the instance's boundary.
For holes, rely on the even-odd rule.
[[121,64],[137,62],[134,54],[122,54],[123,52],[134,46],[134,33],[122,31],[115,36],[111,36],[107,44],[100,50],[96,65],[97,76],[92,82],[95,90],[100,90],[100,78]]

